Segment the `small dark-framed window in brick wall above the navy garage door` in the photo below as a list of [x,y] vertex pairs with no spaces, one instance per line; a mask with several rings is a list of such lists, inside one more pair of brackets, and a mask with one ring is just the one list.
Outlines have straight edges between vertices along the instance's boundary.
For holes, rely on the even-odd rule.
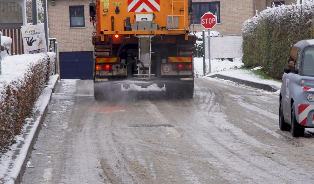
[[70,27],[85,27],[84,6],[70,6]]

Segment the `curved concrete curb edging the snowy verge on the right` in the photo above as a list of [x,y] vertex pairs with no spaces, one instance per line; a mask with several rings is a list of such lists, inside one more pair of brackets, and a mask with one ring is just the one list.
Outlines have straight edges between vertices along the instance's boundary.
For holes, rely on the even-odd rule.
[[263,89],[263,90],[267,90],[267,91],[271,91],[271,92],[276,92],[280,89],[279,87],[277,87],[275,85],[252,82],[252,81],[248,81],[248,80],[244,80],[244,79],[240,79],[240,78],[234,78],[234,77],[221,75],[221,74],[214,74],[214,75],[211,75],[208,77],[211,77],[211,78],[217,77],[217,78],[223,78],[226,80],[232,80],[233,82],[236,82],[239,84],[244,84],[247,86],[251,86],[254,88]]

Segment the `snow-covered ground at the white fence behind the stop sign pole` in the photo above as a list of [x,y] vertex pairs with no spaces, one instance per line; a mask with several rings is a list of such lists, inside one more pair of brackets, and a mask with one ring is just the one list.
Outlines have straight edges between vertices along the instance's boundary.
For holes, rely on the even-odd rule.
[[[209,60],[205,59],[206,74],[209,74]],[[223,70],[229,70],[232,68],[240,68],[243,65],[241,58],[234,58],[234,61],[228,61],[227,59],[212,59],[211,60],[211,72],[219,72]],[[203,77],[203,57],[194,57],[194,77]]]

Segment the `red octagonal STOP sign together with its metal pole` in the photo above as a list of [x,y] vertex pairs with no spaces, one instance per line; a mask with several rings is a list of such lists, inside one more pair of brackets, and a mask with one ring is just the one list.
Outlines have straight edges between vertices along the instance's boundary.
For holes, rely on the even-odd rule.
[[[208,29],[208,60],[209,60],[209,73],[211,73],[211,64],[210,64],[210,29],[212,29],[216,24],[217,24],[217,16],[212,14],[211,12],[207,12],[205,13],[202,17],[201,17],[201,24],[205,29]],[[205,57],[205,53],[204,53],[204,57]],[[205,60],[204,60],[205,61]],[[205,63],[203,63],[204,65]],[[204,69],[205,71],[205,69]],[[205,75],[205,72],[204,72]]]

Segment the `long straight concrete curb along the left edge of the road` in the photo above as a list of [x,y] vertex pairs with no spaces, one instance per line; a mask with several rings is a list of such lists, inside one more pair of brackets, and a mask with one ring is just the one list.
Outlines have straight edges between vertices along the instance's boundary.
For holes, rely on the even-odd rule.
[[[52,93],[54,93],[55,88],[57,87],[58,80],[59,80],[59,78],[56,79],[55,84],[54,84],[54,87],[53,87],[53,89],[51,89],[51,90],[52,90]],[[49,102],[50,102],[50,100],[51,100],[52,93],[51,93],[51,95],[50,95]],[[49,105],[49,103],[46,105],[45,110],[44,110],[44,113],[43,113],[43,115],[40,117],[41,119],[40,119],[40,121],[39,121],[38,127],[36,128],[36,132],[35,132],[35,134],[34,134],[34,137],[33,137],[32,141],[31,141],[31,143],[30,143],[30,147],[29,147],[28,150],[27,150],[27,154],[26,154],[26,157],[25,157],[25,159],[24,159],[24,162],[23,162],[23,164],[22,164],[22,166],[21,166],[21,169],[19,170],[19,174],[18,174],[17,178],[15,178],[15,181],[14,181],[15,184],[19,184],[19,183],[22,181],[22,177],[23,177],[23,174],[24,174],[24,171],[25,171],[26,164],[27,164],[27,162],[28,162],[28,159],[30,158],[30,154],[31,154],[32,151],[33,151],[33,147],[34,147],[34,145],[35,145],[35,142],[36,142],[37,137],[38,137],[38,135],[39,135],[39,132],[40,132],[40,130],[41,130],[40,127],[42,126],[42,124],[43,124],[43,122],[44,122],[44,120],[45,120],[45,116],[46,116],[46,113],[47,113],[47,111],[48,111],[48,105]]]

